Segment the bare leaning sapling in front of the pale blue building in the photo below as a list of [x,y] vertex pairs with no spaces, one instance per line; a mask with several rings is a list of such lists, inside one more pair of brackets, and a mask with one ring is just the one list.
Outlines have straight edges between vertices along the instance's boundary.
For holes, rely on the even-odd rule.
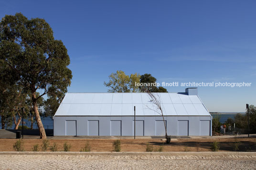
[[[150,101],[156,107],[156,110],[154,110],[154,111],[156,111],[158,114],[160,114],[162,116],[162,118],[163,118],[166,143],[170,143],[171,142],[171,137],[167,135],[167,128],[166,128],[166,123],[165,123],[165,119],[164,119],[164,115],[163,115],[163,108],[161,106],[160,97],[159,97],[159,95],[157,93],[153,94],[150,91],[148,91],[148,95],[149,95]],[[149,109],[153,110],[152,108],[149,108]]]

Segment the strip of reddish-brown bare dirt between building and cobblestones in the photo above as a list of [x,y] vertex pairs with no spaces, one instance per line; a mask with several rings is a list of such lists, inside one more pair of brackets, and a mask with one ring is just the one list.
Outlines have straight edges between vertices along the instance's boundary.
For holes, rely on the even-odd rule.
[[[13,144],[16,139],[0,139],[0,151],[14,151]],[[35,144],[39,144],[41,151],[42,140],[24,139],[24,150],[32,151]],[[63,151],[63,144],[66,141],[71,144],[70,151],[80,151],[88,141],[91,145],[91,151],[103,152],[113,151],[113,139],[75,139],[75,140],[49,140],[50,146],[55,142],[58,146],[58,151]],[[146,145],[153,145],[153,148],[163,146],[163,151],[211,151],[213,141],[220,142],[219,151],[234,151],[235,144],[238,145],[237,151],[256,151],[256,138],[226,138],[226,139],[175,139],[171,144],[165,144],[165,141],[160,139],[121,139],[121,151],[128,152],[143,152],[146,151]],[[48,151],[50,151],[48,149]]]

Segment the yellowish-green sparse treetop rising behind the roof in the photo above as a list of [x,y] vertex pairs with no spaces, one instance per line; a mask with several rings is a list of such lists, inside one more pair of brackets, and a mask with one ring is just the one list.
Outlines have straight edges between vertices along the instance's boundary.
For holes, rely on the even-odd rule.
[[116,73],[111,73],[108,76],[109,81],[104,82],[104,85],[110,89],[108,92],[137,92],[138,86],[135,86],[135,82],[139,82],[140,75],[135,73],[130,76],[126,75],[124,71],[117,70]]

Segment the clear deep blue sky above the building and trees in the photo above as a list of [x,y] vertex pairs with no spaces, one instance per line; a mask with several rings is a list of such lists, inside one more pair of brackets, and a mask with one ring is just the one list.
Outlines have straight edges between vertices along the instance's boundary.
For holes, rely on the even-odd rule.
[[[158,82],[251,82],[201,87],[209,111],[256,105],[255,0],[1,0],[0,18],[43,18],[68,50],[69,92],[107,92],[117,70]],[[184,87],[167,87],[183,92]]]

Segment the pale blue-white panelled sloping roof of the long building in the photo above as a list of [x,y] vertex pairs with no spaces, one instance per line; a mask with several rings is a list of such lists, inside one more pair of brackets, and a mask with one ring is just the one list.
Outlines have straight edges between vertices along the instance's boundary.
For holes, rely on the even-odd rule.
[[[153,93],[160,99],[164,115],[210,116],[197,95]],[[160,115],[147,93],[67,93],[54,116]]]

